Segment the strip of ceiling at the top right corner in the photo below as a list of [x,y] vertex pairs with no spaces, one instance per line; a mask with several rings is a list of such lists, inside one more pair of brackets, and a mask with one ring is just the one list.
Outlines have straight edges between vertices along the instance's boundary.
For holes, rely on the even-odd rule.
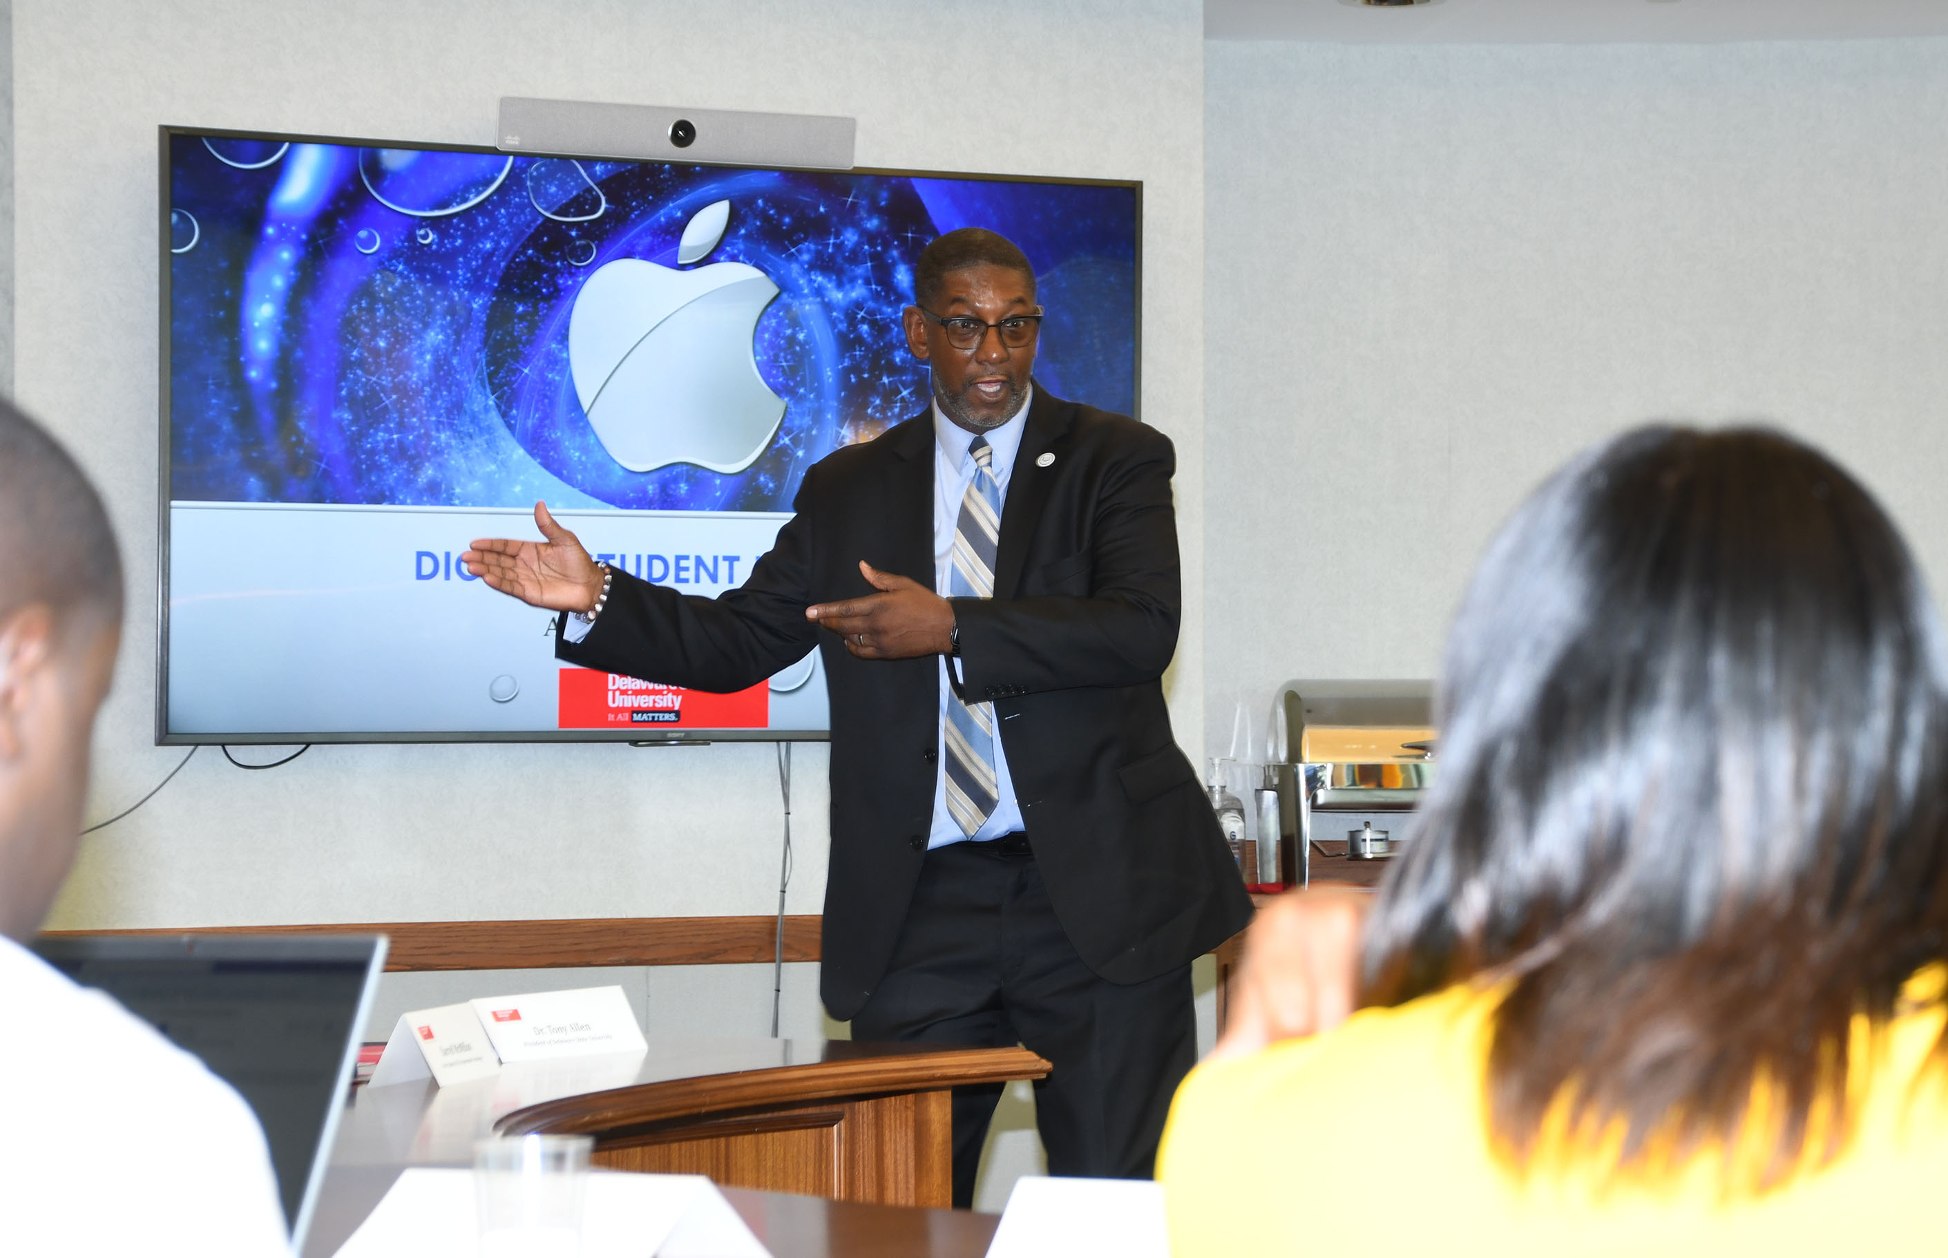
[[1948,0],[1204,0],[1208,39],[1730,43],[1948,35]]

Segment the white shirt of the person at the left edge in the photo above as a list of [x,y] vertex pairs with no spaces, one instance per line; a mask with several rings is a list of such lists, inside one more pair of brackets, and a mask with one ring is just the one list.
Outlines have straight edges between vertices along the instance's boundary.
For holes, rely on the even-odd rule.
[[257,1116],[193,1055],[0,939],[0,1250],[284,1254]]

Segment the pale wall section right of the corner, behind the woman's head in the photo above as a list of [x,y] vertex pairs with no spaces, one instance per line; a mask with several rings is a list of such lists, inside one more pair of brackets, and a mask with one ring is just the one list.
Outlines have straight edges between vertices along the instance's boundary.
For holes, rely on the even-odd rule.
[[1948,588],[1948,41],[1210,43],[1206,732],[1430,676],[1496,522],[1769,417]]

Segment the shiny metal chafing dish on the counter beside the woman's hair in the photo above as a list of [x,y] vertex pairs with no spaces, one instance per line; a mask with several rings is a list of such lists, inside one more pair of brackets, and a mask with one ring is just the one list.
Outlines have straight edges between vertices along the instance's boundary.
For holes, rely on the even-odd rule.
[[[1350,847],[1387,859],[1408,841],[1403,814],[1434,783],[1434,684],[1286,682],[1272,699],[1268,752],[1286,886],[1311,882],[1315,855]],[[1366,841],[1348,843],[1362,833]]]

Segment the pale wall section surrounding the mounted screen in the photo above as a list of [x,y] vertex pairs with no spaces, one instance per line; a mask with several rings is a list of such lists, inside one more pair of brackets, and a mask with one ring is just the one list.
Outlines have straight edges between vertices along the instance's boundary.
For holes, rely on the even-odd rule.
[[[855,115],[869,166],[1143,179],[1143,413],[1179,438],[1186,588],[1202,588],[1194,0],[1001,0],[978,21],[906,0],[19,0],[14,68],[18,397],[103,487],[132,578],[92,818],[181,758],[150,746],[160,123],[491,144],[503,93],[693,103]],[[1196,746],[1194,600],[1180,660],[1173,701]],[[768,913],[771,758],[321,746],[240,773],[206,750],[88,839],[53,925]],[[801,746],[801,913],[824,892],[824,767]]]

